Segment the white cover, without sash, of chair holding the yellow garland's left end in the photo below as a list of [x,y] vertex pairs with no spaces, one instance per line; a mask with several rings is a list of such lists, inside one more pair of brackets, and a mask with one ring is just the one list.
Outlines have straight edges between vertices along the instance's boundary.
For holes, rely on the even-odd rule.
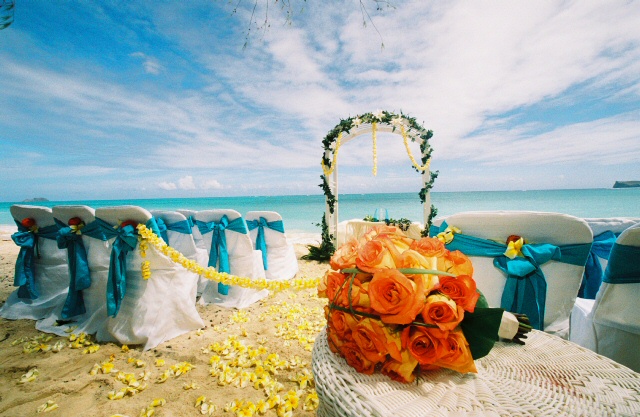
[[[133,220],[145,224],[152,216],[136,206],[104,207],[96,217],[117,225]],[[144,350],[204,326],[195,308],[197,275],[172,262],[149,246],[146,258],[133,250],[127,256],[126,292],[116,317],[106,305],[109,258],[115,238],[107,242],[91,239],[87,248],[91,287],[84,291],[87,313],[76,332],[95,334],[98,341],[139,344]],[[85,240],[86,242],[86,240]],[[151,278],[142,278],[142,262],[148,260]]]

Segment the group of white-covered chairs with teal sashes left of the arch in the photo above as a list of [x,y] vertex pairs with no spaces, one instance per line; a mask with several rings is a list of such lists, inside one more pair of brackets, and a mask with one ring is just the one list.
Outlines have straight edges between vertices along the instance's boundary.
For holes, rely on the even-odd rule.
[[[150,349],[203,327],[195,307],[197,293],[203,304],[235,308],[268,294],[204,280],[154,247],[143,258],[133,250],[138,223],[187,258],[221,272],[290,279],[298,271],[293,246],[275,212],[250,212],[245,220],[235,210],[14,205],[11,214],[18,225],[12,238],[21,246],[14,282],[18,289],[0,316],[37,320],[36,328],[61,336],[73,326],[99,341]],[[144,279],[149,272],[152,279]]]

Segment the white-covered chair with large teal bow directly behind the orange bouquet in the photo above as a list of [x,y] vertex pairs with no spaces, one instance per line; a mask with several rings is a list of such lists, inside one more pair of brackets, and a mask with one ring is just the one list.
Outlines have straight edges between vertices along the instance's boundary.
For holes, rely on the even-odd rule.
[[[447,248],[471,258],[474,279],[491,307],[526,313],[535,328],[568,337],[593,239],[584,220],[559,213],[467,212],[436,219],[432,236],[444,220],[461,230]],[[505,252],[512,235],[526,244],[510,259]]]

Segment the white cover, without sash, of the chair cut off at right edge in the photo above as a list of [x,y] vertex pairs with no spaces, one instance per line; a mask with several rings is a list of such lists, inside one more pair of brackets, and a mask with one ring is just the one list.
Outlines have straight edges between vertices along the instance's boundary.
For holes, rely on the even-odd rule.
[[[622,232],[616,243],[640,247],[640,223]],[[640,372],[639,294],[640,283],[603,282],[595,300],[576,301],[570,340]]]

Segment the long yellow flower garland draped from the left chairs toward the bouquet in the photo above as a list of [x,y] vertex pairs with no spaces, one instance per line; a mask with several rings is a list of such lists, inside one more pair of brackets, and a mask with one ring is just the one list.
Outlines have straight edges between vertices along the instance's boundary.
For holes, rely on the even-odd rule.
[[[201,275],[207,279],[220,282],[224,285],[235,285],[242,288],[251,288],[254,290],[269,290],[272,292],[285,291],[285,290],[306,290],[310,288],[316,288],[320,283],[320,278],[294,278],[288,281],[267,281],[265,278],[251,279],[248,277],[238,277],[235,275],[227,274],[225,272],[218,272],[213,267],[203,267],[192,259],[188,259],[182,253],[178,252],[171,246],[167,245],[158,235],[153,233],[152,230],[147,228],[143,224],[138,224],[138,234],[141,242],[145,241],[146,244],[151,244],[157,250],[165,254],[174,263],[182,265],[185,269]],[[141,256],[143,249],[141,248]],[[146,254],[145,254],[146,256]],[[149,262],[149,261],[145,261]],[[149,275],[151,274],[150,268],[148,269]]]

